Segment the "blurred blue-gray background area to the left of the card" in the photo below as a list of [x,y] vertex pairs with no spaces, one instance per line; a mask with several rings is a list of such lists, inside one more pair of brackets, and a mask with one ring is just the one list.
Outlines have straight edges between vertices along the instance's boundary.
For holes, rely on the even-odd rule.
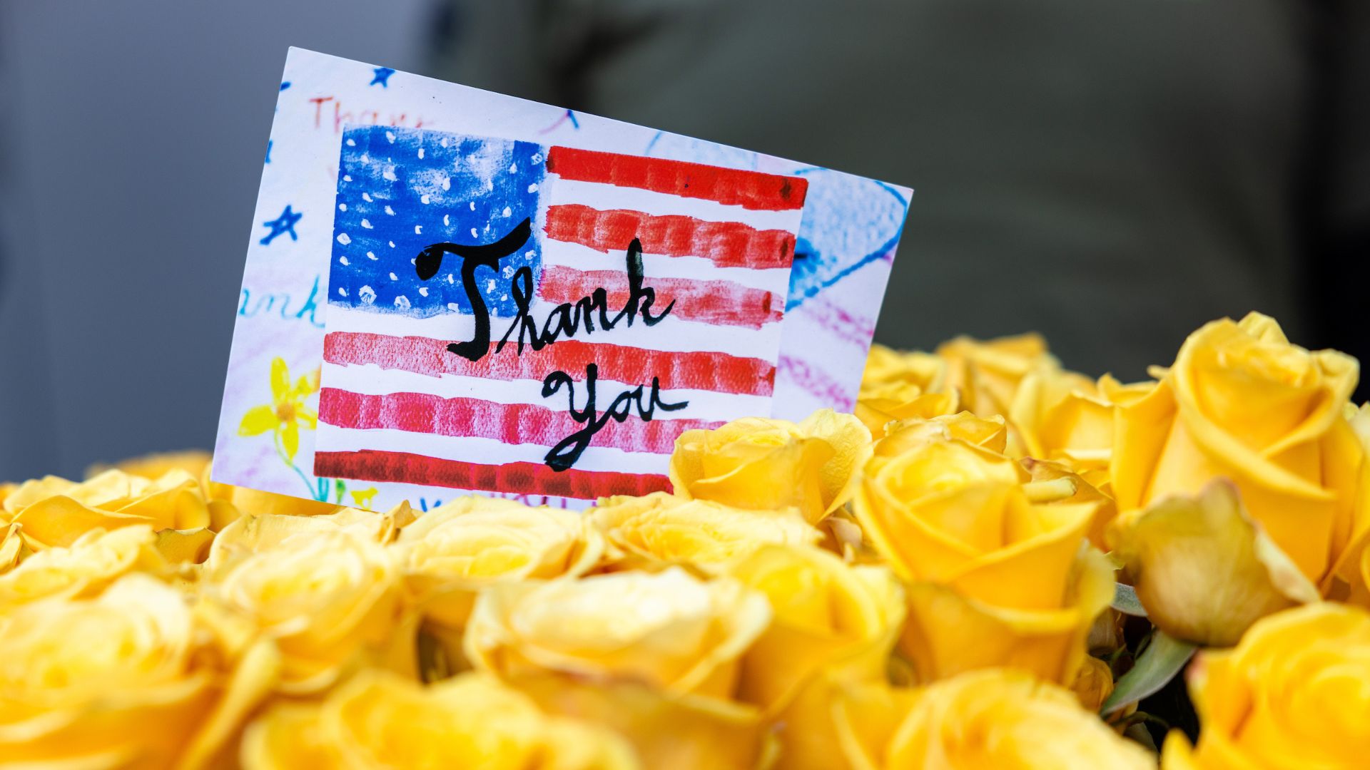
[[412,70],[427,18],[0,3],[0,481],[214,444],[286,48]]

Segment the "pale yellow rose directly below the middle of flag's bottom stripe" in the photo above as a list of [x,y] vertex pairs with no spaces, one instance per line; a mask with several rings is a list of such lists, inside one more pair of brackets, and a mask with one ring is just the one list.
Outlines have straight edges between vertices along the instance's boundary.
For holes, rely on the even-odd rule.
[[392,549],[445,667],[460,670],[462,632],[481,588],[584,574],[599,563],[604,538],[574,511],[473,496],[421,515]]

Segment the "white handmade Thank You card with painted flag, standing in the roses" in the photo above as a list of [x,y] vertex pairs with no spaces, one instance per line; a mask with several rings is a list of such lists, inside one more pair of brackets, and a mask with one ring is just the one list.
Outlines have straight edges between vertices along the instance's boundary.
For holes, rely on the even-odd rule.
[[666,488],[849,410],[911,190],[292,49],[218,481],[348,504]]

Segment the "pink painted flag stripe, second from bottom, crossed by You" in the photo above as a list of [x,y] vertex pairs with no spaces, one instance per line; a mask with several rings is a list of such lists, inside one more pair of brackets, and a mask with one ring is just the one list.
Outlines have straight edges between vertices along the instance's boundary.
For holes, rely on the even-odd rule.
[[[660,412],[658,412],[660,414]],[[319,419],[338,427],[392,429],[437,436],[478,436],[506,444],[555,447],[585,427],[564,410],[540,404],[497,404],[482,399],[444,399],[430,393],[370,396],[325,388],[319,392]],[[625,452],[669,455],[675,437],[686,430],[714,429],[707,419],[652,419],[633,414],[623,422],[608,421],[595,434],[595,447]]]

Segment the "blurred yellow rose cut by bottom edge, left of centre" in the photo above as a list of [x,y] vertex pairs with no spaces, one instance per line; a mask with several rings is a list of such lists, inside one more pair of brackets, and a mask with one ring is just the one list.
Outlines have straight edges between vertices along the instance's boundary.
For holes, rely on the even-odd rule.
[[425,688],[362,671],[321,703],[281,704],[247,730],[247,770],[411,767],[632,770],[633,749],[612,733],[544,715],[484,674]]

